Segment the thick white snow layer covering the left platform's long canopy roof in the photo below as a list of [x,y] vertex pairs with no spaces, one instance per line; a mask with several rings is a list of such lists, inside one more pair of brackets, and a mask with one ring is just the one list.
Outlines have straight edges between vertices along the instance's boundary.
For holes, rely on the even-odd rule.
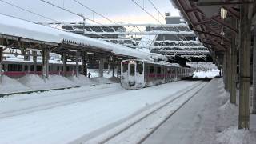
[[[82,43],[86,46],[94,46],[100,49],[111,50],[114,54],[127,55],[135,58],[151,58],[148,53],[134,50],[126,46],[121,46],[94,38],[88,38],[83,35],[54,29],[49,26],[42,26],[22,19],[12,18],[2,14],[0,14],[0,19],[0,34],[29,38],[43,42],[62,43],[64,40]],[[166,59],[166,57],[161,54],[151,55],[154,55],[154,57],[157,57],[158,59]]]

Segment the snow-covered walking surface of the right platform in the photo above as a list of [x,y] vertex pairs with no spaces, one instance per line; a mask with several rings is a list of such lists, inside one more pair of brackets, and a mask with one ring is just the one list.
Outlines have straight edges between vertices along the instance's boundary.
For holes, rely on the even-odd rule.
[[222,78],[211,80],[143,143],[222,143],[220,134],[238,125],[238,106],[230,104],[223,87]]

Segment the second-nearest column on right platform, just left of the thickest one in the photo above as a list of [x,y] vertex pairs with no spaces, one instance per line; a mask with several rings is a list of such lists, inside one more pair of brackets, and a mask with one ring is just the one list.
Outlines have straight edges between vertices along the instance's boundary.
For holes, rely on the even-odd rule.
[[[237,27],[236,20],[232,19],[232,26]],[[231,85],[230,85],[230,103],[236,104],[236,82],[237,82],[237,47],[235,45],[236,36],[231,38]]]

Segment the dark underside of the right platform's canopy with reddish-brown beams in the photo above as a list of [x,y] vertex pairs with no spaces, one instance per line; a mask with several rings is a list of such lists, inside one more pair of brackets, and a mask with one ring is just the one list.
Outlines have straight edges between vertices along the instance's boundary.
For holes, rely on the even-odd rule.
[[[238,34],[238,26],[232,26],[231,18],[240,19],[240,5],[250,4],[254,14],[255,2],[250,0],[170,0],[212,55],[230,50],[231,37]],[[255,16],[254,16],[255,17]],[[255,23],[254,18],[253,23]]]

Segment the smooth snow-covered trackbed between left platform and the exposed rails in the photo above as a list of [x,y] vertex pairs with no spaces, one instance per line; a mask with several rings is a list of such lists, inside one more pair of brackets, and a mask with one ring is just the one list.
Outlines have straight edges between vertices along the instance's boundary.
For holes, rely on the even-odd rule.
[[115,83],[0,98],[0,143],[85,142],[196,83],[142,90]]

